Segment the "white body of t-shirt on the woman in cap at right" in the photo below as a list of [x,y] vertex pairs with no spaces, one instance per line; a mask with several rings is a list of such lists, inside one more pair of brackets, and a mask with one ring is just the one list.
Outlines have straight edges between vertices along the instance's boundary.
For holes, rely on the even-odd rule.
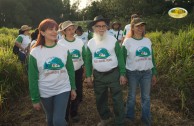
[[127,50],[126,69],[131,71],[149,70],[154,67],[152,63],[151,41],[148,38],[136,40],[127,38],[123,46]]

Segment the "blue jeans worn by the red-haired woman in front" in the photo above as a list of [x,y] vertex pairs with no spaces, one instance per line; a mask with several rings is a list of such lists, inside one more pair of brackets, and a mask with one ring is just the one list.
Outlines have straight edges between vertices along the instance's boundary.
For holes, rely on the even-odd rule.
[[41,98],[48,126],[67,126],[65,120],[70,92],[64,92],[49,98]]

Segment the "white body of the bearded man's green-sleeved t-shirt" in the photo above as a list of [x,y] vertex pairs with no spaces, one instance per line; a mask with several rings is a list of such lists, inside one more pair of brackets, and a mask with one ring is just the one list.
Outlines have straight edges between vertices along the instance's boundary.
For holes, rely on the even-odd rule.
[[105,42],[97,43],[94,38],[88,42],[88,48],[92,54],[93,68],[99,72],[107,72],[118,66],[115,53],[115,37],[108,35]]

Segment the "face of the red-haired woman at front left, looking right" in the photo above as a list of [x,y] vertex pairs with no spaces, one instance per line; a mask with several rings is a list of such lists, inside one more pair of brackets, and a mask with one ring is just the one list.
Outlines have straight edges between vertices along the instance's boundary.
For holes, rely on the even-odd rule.
[[41,31],[41,34],[45,37],[45,41],[56,41],[57,39],[57,28],[48,28],[44,32]]

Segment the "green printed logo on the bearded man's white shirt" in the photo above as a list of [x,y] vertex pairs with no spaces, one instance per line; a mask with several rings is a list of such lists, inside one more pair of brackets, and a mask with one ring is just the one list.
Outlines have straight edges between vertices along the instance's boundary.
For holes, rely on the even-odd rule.
[[94,53],[94,58],[96,59],[106,59],[110,56],[110,53],[105,48],[97,49]]

